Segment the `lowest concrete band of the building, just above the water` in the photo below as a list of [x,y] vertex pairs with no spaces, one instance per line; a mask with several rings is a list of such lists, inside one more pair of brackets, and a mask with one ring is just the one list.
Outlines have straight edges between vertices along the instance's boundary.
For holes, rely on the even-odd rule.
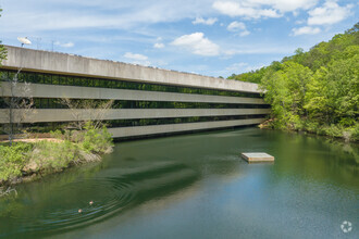
[[150,125],[137,127],[122,127],[109,128],[113,138],[134,137],[157,135],[166,133],[181,133],[201,129],[214,129],[235,127],[244,125],[257,125],[264,122],[264,118],[238,120],[238,121],[223,121],[223,122],[201,122],[201,123],[187,123],[187,124],[171,124],[171,125]]

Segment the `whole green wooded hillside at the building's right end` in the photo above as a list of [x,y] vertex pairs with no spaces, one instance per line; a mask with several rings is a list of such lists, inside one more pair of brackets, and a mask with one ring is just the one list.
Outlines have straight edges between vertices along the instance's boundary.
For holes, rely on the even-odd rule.
[[327,42],[257,71],[230,76],[258,83],[271,104],[265,126],[359,140],[359,23]]

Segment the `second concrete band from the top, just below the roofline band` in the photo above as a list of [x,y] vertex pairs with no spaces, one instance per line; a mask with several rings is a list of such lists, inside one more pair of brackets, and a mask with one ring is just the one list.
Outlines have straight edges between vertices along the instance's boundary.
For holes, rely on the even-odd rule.
[[[146,90],[107,89],[77,86],[57,86],[29,84],[27,96],[24,93],[24,84],[17,84],[13,89],[15,97],[34,98],[69,98],[95,100],[137,100],[137,101],[171,101],[171,102],[206,102],[206,103],[242,103],[265,104],[261,98],[221,97],[195,93],[175,93]],[[1,83],[0,97],[10,97],[11,84]]]

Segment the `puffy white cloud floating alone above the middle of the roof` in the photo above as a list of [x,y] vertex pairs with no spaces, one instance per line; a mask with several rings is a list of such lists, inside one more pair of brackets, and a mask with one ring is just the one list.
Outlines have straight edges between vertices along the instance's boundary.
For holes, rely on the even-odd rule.
[[219,55],[220,47],[208,38],[205,37],[203,33],[194,33],[190,35],[184,35],[176,38],[171,45],[183,47],[187,50],[193,51],[194,54],[199,55]]

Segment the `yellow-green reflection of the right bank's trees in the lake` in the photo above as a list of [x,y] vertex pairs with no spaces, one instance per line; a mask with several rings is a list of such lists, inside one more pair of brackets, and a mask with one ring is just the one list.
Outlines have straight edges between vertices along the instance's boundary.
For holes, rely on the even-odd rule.
[[320,181],[358,187],[359,148],[324,137],[277,134],[274,169],[280,175],[301,175]]

